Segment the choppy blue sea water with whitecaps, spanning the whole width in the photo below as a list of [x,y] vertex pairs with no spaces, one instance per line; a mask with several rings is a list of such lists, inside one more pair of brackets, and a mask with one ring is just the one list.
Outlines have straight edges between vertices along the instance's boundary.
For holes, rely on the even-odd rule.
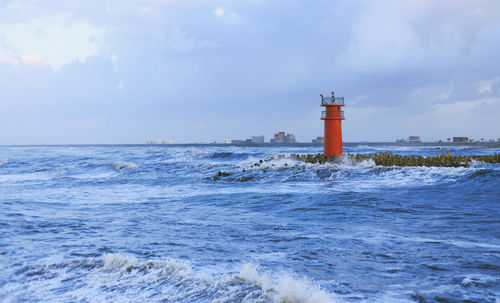
[[[500,301],[500,165],[320,151],[0,147],[0,301]],[[500,152],[346,148],[381,151]]]

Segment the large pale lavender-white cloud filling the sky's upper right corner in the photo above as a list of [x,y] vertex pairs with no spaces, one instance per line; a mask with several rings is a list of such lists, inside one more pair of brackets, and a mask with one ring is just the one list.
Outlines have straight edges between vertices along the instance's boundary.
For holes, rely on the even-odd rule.
[[498,20],[495,1],[368,2],[336,66],[363,72],[421,68],[467,53]]

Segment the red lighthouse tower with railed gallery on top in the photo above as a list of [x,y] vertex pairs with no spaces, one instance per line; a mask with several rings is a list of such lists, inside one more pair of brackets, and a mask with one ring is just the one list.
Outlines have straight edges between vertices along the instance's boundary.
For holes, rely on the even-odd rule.
[[321,95],[321,106],[325,111],[321,112],[321,120],[325,121],[325,157],[332,155],[342,155],[342,120],[344,120],[344,97],[335,97],[332,92],[331,97]]

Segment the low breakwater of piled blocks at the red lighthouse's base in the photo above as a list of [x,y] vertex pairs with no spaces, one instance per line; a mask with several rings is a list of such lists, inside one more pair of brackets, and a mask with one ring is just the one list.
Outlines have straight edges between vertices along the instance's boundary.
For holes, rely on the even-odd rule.
[[[323,154],[291,154],[291,157],[306,163],[337,162],[339,157],[325,157]],[[376,165],[381,166],[427,166],[427,167],[468,167],[473,161],[482,163],[500,163],[500,154],[471,156],[452,155],[451,153],[438,154],[437,156],[412,155],[403,156],[392,152],[381,152],[374,154],[346,154],[346,157],[356,161],[373,160]]]

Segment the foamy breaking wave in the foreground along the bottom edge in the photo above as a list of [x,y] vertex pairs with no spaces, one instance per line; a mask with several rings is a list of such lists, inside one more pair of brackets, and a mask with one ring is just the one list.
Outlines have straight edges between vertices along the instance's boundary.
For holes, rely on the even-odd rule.
[[[30,283],[26,283],[26,282]],[[50,291],[49,291],[50,289]],[[52,302],[276,302],[330,303],[332,294],[307,279],[259,273],[252,263],[235,274],[194,270],[176,259],[138,261],[119,253],[50,265],[30,265],[9,282],[9,298]]]

